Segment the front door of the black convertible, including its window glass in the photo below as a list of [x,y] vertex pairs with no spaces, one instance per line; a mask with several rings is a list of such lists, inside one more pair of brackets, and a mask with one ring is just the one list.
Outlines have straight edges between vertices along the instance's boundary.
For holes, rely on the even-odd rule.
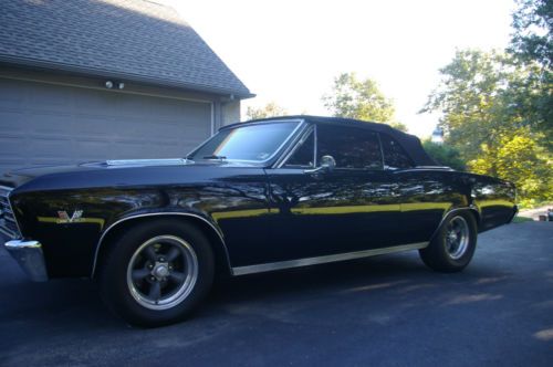
[[[334,158],[334,169],[321,169],[323,156]],[[371,129],[313,125],[289,159],[267,174],[271,261],[399,244],[397,184],[383,169]]]

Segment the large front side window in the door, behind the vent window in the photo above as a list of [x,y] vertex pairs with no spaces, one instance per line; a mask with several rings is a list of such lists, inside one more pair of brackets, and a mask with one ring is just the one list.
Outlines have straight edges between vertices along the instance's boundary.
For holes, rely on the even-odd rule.
[[319,125],[317,161],[326,155],[334,157],[336,168],[383,169],[378,137],[368,129]]

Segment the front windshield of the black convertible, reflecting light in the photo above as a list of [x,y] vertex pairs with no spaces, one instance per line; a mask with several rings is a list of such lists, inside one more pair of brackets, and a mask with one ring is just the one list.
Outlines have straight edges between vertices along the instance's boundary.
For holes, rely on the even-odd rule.
[[187,158],[265,161],[276,154],[299,124],[262,123],[223,129]]

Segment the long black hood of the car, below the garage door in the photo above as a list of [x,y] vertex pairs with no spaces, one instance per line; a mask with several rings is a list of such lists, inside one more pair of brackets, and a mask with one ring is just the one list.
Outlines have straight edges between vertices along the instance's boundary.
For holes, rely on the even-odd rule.
[[200,182],[261,167],[227,160],[128,159],[82,162],[71,166],[42,166],[12,170],[0,177],[0,186],[18,192],[81,189],[94,187],[136,187]]

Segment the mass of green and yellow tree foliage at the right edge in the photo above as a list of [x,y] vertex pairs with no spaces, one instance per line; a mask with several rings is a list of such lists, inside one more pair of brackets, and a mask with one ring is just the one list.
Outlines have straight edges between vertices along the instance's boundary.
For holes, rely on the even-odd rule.
[[519,0],[505,53],[458,51],[422,111],[474,172],[517,185],[522,205],[553,199],[553,0]]

